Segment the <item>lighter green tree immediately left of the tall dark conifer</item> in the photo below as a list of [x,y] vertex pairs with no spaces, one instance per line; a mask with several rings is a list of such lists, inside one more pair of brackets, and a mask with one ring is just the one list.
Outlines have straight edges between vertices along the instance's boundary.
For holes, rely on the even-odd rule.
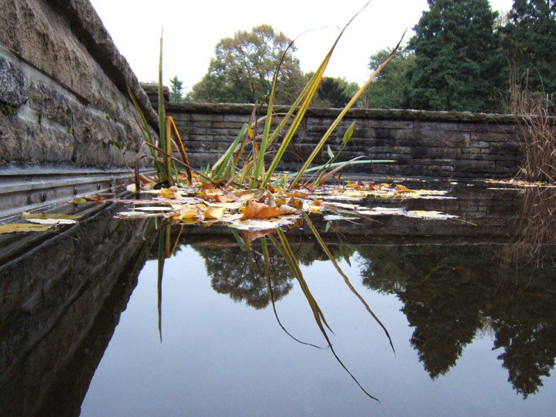
[[[372,74],[384,63],[392,49],[382,49],[370,56],[368,68]],[[404,89],[407,88],[407,70],[414,63],[413,51],[403,48],[395,51],[392,59],[375,77],[364,93],[368,108],[405,108]]]

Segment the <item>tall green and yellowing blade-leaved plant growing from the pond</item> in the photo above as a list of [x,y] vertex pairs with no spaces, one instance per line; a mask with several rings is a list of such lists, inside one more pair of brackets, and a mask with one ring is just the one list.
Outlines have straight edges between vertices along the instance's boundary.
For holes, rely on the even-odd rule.
[[[370,3],[370,1],[368,3]],[[366,6],[368,6],[368,3],[366,3],[366,5],[363,6],[361,10],[366,8]],[[354,94],[352,99],[343,108],[338,117],[336,117],[336,120],[332,122],[332,124],[329,126],[329,129],[327,129],[318,144],[313,148],[309,157],[306,158],[300,170],[289,177],[275,176],[277,167],[284,157],[286,149],[288,149],[288,145],[290,145],[292,138],[295,136],[295,133],[297,132],[297,129],[299,128],[304,115],[311,104],[311,101],[313,100],[313,97],[315,97],[316,95],[318,86],[322,81],[322,76],[334,52],[334,49],[336,48],[336,44],[338,44],[338,41],[340,40],[347,26],[349,26],[352,20],[357,17],[359,13],[361,13],[361,10],[359,10],[359,12],[354,15],[354,17],[352,17],[352,19],[350,19],[350,21],[347,22],[347,24],[344,26],[344,28],[336,38],[334,44],[332,44],[332,47],[329,49],[324,60],[322,60],[322,63],[320,64],[316,72],[313,73],[311,79],[309,79],[309,81],[306,83],[306,85],[302,89],[302,92],[300,92],[300,95],[298,95],[297,99],[295,99],[288,112],[285,115],[281,115],[278,123],[273,124],[273,120],[278,117],[274,109],[278,75],[281,70],[281,65],[282,63],[284,63],[284,58],[286,57],[288,49],[293,47],[294,41],[291,41],[291,43],[286,48],[286,51],[284,51],[284,53],[282,54],[281,60],[279,61],[279,65],[276,69],[275,76],[272,81],[272,88],[270,89],[270,93],[268,95],[266,115],[258,119],[256,117],[256,113],[253,113],[252,117],[250,118],[250,122],[243,126],[243,128],[238,133],[236,140],[234,140],[234,142],[229,146],[224,154],[222,154],[218,161],[216,161],[212,166],[207,167],[203,172],[194,170],[193,167],[190,166],[186,151],[183,147],[183,142],[181,141],[174,121],[172,120],[172,117],[169,117],[165,114],[165,105],[162,92],[163,85],[161,38],[161,51],[158,66],[158,142],[156,142],[151,133],[149,133],[149,126],[145,120],[145,117],[144,115],[142,115],[136,99],[134,99],[132,96],[133,103],[136,105],[137,111],[140,114],[141,120],[140,122],[138,121],[138,124],[145,139],[145,146],[149,147],[151,151],[150,156],[154,159],[158,182],[167,183],[169,186],[172,186],[174,183],[178,183],[178,171],[175,167],[175,164],[178,163],[179,165],[186,167],[188,180],[190,182],[192,175],[191,172],[194,171],[199,175],[199,177],[202,178],[202,181],[212,183],[214,186],[222,186],[223,184],[225,184],[227,186],[261,190],[266,188],[270,183],[272,183],[272,181],[279,181],[279,185],[282,188],[292,190],[293,188],[300,186],[304,174],[312,169],[317,171],[316,180],[314,180],[312,183],[305,184],[307,188],[311,189],[318,186],[332,174],[331,172],[328,172],[327,174],[327,171],[331,168],[334,168],[334,172],[337,172],[343,167],[354,163],[394,162],[386,160],[373,161],[370,160],[370,158],[366,158],[366,160],[362,161],[361,159],[363,157],[359,157],[345,163],[334,165],[334,161],[336,161],[336,158],[338,158],[338,155],[345,148],[347,142],[352,136],[352,133],[354,131],[354,125],[352,124],[352,126],[350,126],[345,132],[343,145],[339,152],[334,155],[332,153],[332,150],[328,148],[328,154],[330,156],[329,161],[325,163],[325,165],[321,165],[320,167],[309,168],[311,163],[313,163],[313,161],[315,160],[316,156],[320,154],[322,147],[324,147],[332,132],[334,132],[334,130],[338,127],[338,124],[340,124],[341,120],[343,120],[343,117],[345,117],[347,111],[352,108],[357,99],[359,99],[359,97],[361,97],[361,95],[363,94],[363,91],[366,90],[371,81],[375,79],[375,76],[377,76],[382,68],[384,68],[389,60],[391,60],[392,56],[395,54],[395,51],[397,51],[398,47],[400,47],[400,43],[402,42],[401,39],[396,47],[393,49],[391,54],[386,58],[386,60],[384,60],[384,63],[382,63],[382,65],[379,65],[377,70],[373,72],[368,81],[363,84],[363,86]],[[260,136],[255,136],[254,132],[256,132],[256,127],[259,123],[263,124],[263,133]],[[286,131],[286,133],[284,133],[284,135],[282,136],[281,132],[283,131]],[[172,136],[174,137],[174,140],[172,140]],[[273,147],[275,146],[277,147],[276,150],[273,149]],[[174,149],[179,153],[180,158],[174,158],[174,156],[172,155],[172,151]],[[272,156],[272,154],[274,154],[274,156]],[[138,159],[136,162],[136,190],[140,189],[141,177],[138,174],[138,167],[139,161],[143,157],[144,155],[138,155]],[[265,166],[266,159],[271,159],[268,166]]]

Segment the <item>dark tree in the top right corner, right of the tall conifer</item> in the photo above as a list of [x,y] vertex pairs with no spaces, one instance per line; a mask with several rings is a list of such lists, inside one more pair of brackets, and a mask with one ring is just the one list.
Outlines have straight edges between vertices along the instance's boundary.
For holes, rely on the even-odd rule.
[[502,34],[507,60],[528,88],[555,95],[556,0],[514,0]]

